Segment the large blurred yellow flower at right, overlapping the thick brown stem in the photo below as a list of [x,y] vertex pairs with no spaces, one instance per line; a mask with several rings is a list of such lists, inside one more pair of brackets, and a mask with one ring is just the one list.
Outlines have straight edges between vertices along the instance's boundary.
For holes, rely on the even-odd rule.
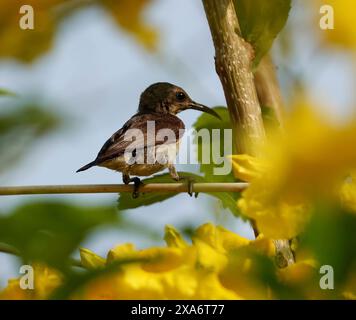
[[[239,208],[274,239],[298,235],[309,220],[309,201],[335,197],[356,164],[356,123],[336,126],[306,103],[295,110],[285,134],[270,139],[261,159],[232,156],[235,175],[250,182]],[[354,199],[352,188],[344,187],[348,203]]]

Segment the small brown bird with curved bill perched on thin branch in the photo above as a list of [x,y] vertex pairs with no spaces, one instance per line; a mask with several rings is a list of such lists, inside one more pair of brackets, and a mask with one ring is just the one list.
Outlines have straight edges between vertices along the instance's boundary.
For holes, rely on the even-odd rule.
[[[181,177],[174,166],[174,158],[178,153],[185,125],[177,114],[189,109],[208,113],[221,120],[213,109],[193,101],[179,86],[168,82],[150,85],[140,96],[136,114],[104,143],[94,161],[76,172],[94,166],[121,172],[125,184],[134,183],[133,198],[139,196],[139,187],[142,184],[139,176],[151,176],[168,168],[172,179],[179,181]],[[149,124],[151,128],[154,124],[153,135],[149,132]],[[160,130],[172,134],[167,134],[167,139],[157,139]],[[133,133],[135,140],[132,139]],[[128,138],[130,136],[131,139]],[[138,155],[141,161],[138,161]],[[192,195],[192,186],[188,190]]]

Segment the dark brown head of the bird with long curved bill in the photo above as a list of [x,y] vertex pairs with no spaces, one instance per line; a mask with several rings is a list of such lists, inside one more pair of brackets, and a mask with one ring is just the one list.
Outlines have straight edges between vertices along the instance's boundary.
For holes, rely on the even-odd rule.
[[140,113],[155,112],[176,115],[188,109],[206,112],[221,119],[214,110],[193,101],[182,88],[168,82],[150,85],[141,94],[138,111]]

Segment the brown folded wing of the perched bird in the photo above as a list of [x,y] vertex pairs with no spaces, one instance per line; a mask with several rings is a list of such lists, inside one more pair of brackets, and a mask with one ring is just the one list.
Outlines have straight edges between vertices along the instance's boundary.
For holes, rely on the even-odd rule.
[[[152,135],[152,137],[147,134],[148,121],[154,121],[154,135]],[[173,134],[168,135],[161,140],[157,137],[157,133],[161,129],[171,129]],[[97,164],[103,163],[123,155],[125,151],[139,151],[142,148],[152,147],[163,143],[176,143],[182,136],[183,131],[181,131],[181,129],[184,130],[184,124],[176,116],[155,113],[136,114],[105,142],[99,151],[95,162]],[[138,132],[141,134],[138,134]],[[165,131],[161,132],[163,136],[164,132]],[[135,138],[132,139],[132,136]]]

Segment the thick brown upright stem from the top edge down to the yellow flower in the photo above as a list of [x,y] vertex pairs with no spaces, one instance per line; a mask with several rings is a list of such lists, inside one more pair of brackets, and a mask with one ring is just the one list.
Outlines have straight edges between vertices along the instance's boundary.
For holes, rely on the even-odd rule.
[[251,62],[253,48],[239,34],[231,0],[203,0],[215,45],[215,66],[235,130],[238,153],[258,154],[265,137]]

